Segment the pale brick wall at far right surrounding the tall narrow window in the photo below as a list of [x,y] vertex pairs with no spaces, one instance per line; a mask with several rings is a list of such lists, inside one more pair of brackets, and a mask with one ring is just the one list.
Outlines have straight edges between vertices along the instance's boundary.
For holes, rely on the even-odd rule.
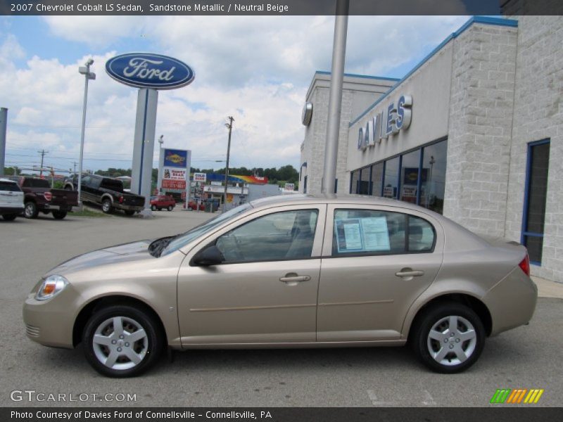
[[563,17],[520,16],[506,232],[520,241],[527,144],[549,138],[550,164],[541,267],[563,282]]

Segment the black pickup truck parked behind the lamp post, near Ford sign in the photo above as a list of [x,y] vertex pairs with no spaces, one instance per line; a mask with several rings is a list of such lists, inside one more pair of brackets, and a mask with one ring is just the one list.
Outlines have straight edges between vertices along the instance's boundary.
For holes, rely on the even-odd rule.
[[[78,186],[77,177],[65,179],[65,189],[72,190]],[[144,209],[145,197],[125,192],[123,182],[113,177],[97,174],[84,174],[80,198],[84,202],[101,205],[101,210],[110,214],[113,210],[122,210],[126,215],[134,215]]]

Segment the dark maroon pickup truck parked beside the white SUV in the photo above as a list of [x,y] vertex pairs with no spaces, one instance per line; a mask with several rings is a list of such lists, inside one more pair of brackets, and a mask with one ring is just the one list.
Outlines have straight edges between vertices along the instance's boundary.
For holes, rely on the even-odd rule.
[[72,207],[78,205],[76,192],[53,189],[46,179],[27,176],[11,176],[9,179],[16,181],[23,191],[25,218],[36,218],[39,212],[43,212],[51,213],[55,219],[63,219]]

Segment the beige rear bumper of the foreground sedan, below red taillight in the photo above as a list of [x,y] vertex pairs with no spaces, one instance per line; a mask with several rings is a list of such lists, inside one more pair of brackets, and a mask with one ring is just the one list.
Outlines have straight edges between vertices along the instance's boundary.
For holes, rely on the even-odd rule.
[[491,312],[491,335],[528,324],[536,310],[538,287],[516,267],[483,297]]

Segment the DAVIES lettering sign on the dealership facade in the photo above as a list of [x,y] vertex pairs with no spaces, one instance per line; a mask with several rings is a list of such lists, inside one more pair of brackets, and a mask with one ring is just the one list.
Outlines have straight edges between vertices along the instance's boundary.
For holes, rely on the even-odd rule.
[[358,149],[365,150],[368,146],[381,142],[381,139],[387,139],[389,135],[408,129],[412,120],[411,108],[412,96],[402,95],[397,103],[388,105],[386,116],[383,111],[374,115],[365,127],[358,130]]

